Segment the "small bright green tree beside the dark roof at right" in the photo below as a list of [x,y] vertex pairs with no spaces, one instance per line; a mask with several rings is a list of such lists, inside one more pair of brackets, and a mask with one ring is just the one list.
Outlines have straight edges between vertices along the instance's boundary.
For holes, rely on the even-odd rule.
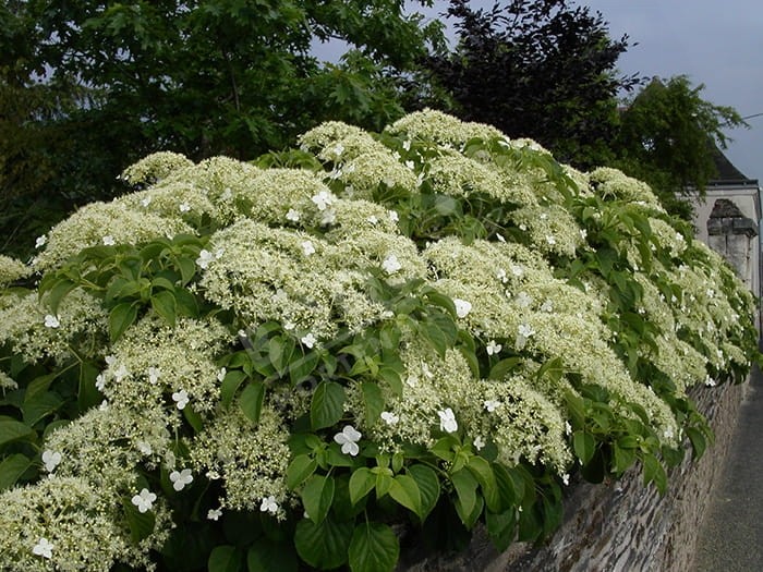
[[723,130],[747,125],[734,108],[703,99],[703,89],[685,75],[655,77],[622,109],[613,142],[615,165],[683,218],[692,209],[687,192],[703,193],[717,175],[715,156],[728,142]]

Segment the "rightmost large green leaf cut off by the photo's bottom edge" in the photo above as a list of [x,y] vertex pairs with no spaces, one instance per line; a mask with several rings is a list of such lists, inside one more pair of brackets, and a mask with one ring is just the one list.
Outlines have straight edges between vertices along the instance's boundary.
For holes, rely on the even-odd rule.
[[400,544],[392,528],[378,522],[355,526],[349,548],[352,572],[391,572],[399,556]]

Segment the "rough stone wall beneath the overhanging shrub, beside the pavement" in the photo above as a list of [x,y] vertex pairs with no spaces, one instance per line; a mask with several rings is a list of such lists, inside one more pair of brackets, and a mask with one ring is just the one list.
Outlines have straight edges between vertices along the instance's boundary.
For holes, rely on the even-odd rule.
[[407,572],[663,572],[691,568],[694,547],[714,483],[723,468],[748,385],[700,387],[698,409],[708,418],[715,442],[699,461],[675,467],[668,490],[643,486],[640,467],[614,483],[572,483],[565,499],[565,521],[534,548],[523,543],[498,553],[477,531],[462,553],[422,558],[404,555]]

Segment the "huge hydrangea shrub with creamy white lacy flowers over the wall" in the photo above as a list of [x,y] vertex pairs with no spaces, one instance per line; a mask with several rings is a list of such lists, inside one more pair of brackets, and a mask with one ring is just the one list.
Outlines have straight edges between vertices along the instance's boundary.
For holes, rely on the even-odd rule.
[[754,301],[646,185],[434,111],[300,143],[0,257],[0,568],[392,570],[702,454]]

